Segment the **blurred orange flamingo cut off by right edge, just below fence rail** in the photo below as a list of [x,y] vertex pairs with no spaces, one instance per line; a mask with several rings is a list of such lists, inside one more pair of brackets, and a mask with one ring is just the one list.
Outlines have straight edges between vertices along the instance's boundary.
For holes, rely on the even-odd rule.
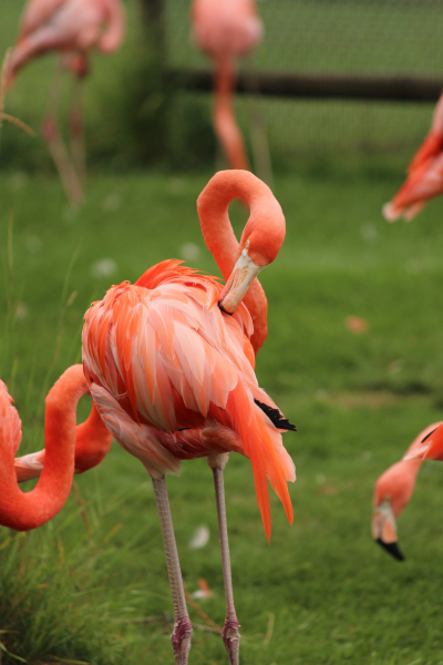
[[393,200],[383,206],[388,222],[415,217],[429,198],[443,192],[443,95],[434,111],[431,131],[408,167],[408,177]]

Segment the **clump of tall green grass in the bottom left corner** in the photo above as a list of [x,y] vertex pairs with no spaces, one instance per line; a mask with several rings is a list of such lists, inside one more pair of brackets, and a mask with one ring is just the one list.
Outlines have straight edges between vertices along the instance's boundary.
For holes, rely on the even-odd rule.
[[[56,526],[0,531],[0,648],[3,663],[116,663],[127,644],[115,627],[122,593],[106,579],[127,543],[112,546],[119,524],[104,538],[100,522],[78,507],[63,510]],[[69,538],[83,518],[83,534]],[[69,545],[66,544],[69,541]],[[120,659],[121,662],[121,659]]]

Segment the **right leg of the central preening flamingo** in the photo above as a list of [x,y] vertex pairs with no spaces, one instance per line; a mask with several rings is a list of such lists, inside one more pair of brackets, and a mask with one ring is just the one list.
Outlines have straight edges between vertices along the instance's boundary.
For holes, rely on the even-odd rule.
[[223,470],[228,461],[228,453],[208,457],[208,464],[214,473],[215,499],[217,504],[218,533],[220,539],[223,577],[225,582],[226,618],[223,626],[223,642],[228,654],[229,665],[238,665],[240,648],[239,623],[234,606],[233,577],[230,573],[230,556],[228,526],[226,521],[225,485]]

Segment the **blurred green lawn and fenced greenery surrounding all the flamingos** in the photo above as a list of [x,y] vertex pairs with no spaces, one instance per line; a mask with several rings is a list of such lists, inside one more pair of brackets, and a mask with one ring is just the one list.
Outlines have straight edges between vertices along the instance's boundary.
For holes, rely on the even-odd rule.
[[[0,52],[13,42],[21,8],[1,0]],[[82,208],[68,206],[42,141],[3,126],[0,376],[22,419],[22,453],[43,446],[43,397],[81,360],[91,301],[166,257],[218,274],[195,206],[223,164],[209,96],[163,88],[140,8],[126,8],[124,48],[94,58],[85,85],[90,175]],[[441,2],[274,0],[259,10],[266,39],[254,57],[258,69],[440,73]],[[206,62],[188,32],[187,3],[166,2],[171,65]],[[34,129],[53,65],[51,57],[30,64],[7,100],[6,110]],[[249,462],[234,456],[226,469],[240,663],[442,665],[439,463],[423,466],[399,521],[406,561],[389,559],[370,535],[375,479],[443,411],[443,202],[431,202],[411,224],[388,225],[380,214],[432,106],[246,99],[237,109],[247,136],[256,104],[287,218],[285,245],[262,273],[269,336],[257,375],[297,424],[284,440],[298,479],[290,487],[292,528],[271,498],[268,546]],[[246,215],[236,204],[230,214],[238,235]],[[362,318],[365,331],[352,332],[350,316]],[[85,398],[80,420],[87,410]],[[168,488],[186,589],[194,593],[203,577],[213,591],[195,601],[199,610],[189,607],[206,628],[195,631],[189,664],[222,665],[222,640],[202,616],[224,621],[206,461],[184,463]],[[195,550],[189,543],[200,525],[210,538]],[[17,657],[32,665],[171,664],[171,613],[152,485],[115,443],[99,468],[75,478],[52,522],[28,534],[0,531],[8,665]]]

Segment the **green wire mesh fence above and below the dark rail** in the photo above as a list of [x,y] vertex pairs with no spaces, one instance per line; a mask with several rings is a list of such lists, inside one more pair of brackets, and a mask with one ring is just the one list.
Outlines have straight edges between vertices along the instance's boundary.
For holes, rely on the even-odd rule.
[[[2,53],[16,39],[24,1],[0,1]],[[152,34],[143,30],[140,10],[142,2],[158,6],[162,0],[125,2],[126,42],[111,58],[93,57],[93,75],[85,85],[90,158],[119,167],[138,164],[146,154],[148,163],[155,152],[152,141],[157,141],[161,134],[156,127],[165,113],[168,115],[163,124],[168,126],[163,132],[168,154],[174,155],[174,151],[177,154],[174,164],[203,165],[213,160],[215,143],[210,95],[168,91],[165,96],[157,83],[147,83],[143,68],[138,68],[140,44],[148,42]],[[240,70],[254,70],[268,76],[272,73],[419,76],[443,81],[443,0],[258,0],[257,6],[265,37],[256,52],[239,63]],[[182,72],[195,69],[210,72],[212,62],[192,43],[189,9],[190,0],[163,0],[163,64]],[[45,57],[30,63],[8,98],[7,110],[34,129],[44,113],[54,61],[55,57]],[[135,81],[136,76],[140,82]],[[136,90],[134,96],[134,89],[143,85],[144,90],[140,93]],[[236,106],[249,144],[250,119],[261,114],[275,164],[281,155],[379,152],[408,156],[423,139],[432,114],[430,103],[265,95],[238,95]],[[199,117],[206,123],[203,130]],[[150,126],[154,127],[151,134]],[[198,151],[203,136],[208,147]],[[38,142],[29,145],[28,139],[11,127],[3,129],[2,141],[3,166],[42,163],[45,152]],[[137,162],[133,155],[144,143],[146,150]],[[159,139],[157,143],[155,160],[163,150]],[[189,157],[186,162],[186,155],[193,160]]]

